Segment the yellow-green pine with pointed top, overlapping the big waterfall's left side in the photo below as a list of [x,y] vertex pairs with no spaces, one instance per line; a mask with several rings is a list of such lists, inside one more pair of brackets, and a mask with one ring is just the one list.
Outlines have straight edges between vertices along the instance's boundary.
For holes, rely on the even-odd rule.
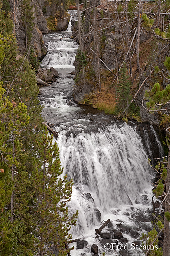
[[58,251],[59,256],[67,255],[66,244],[71,239],[68,232],[71,225],[75,225],[78,211],[68,215],[67,202],[71,199],[72,180],[67,181],[61,174],[59,149],[53,137],[48,136],[47,129],[42,139],[36,141],[38,153],[34,158],[35,171],[33,183],[36,188],[35,215],[37,217],[38,255],[51,255]]

